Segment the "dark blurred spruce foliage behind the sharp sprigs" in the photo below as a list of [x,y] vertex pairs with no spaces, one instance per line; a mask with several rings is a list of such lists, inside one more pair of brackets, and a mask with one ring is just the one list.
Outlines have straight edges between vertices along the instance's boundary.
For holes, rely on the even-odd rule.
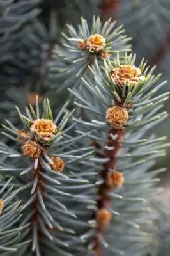
[[[54,49],[61,44],[66,24],[76,26],[81,16],[89,24],[93,15],[123,24],[132,36],[137,62],[146,58],[151,67],[157,65],[155,73],[163,73],[162,81],[170,81],[169,0],[0,0],[0,15],[1,122],[6,116],[15,120],[15,104],[33,104],[36,93],[52,97],[50,90],[61,83],[58,74],[62,68],[60,61],[55,62]],[[167,92],[169,83],[162,90]],[[164,110],[169,110],[169,103]],[[169,135],[169,124],[167,118],[154,132]],[[167,156],[158,159],[158,166],[169,168],[169,152],[167,148]],[[168,173],[162,176],[167,187]]]

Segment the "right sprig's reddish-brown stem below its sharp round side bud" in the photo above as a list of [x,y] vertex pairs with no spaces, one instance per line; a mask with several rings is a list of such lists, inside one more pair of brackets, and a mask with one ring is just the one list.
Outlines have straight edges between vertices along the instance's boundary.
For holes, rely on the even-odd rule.
[[[110,134],[113,134],[114,140],[111,139]],[[121,150],[121,144],[119,141],[123,141],[125,136],[125,129],[111,129],[108,134],[107,147],[112,148],[111,150],[105,150],[105,157],[109,158],[109,161],[103,165],[103,170],[100,176],[104,182],[99,186],[98,195],[100,199],[97,202],[97,234],[104,237],[104,230],[111,221],[111,207],[112,200],[109,198],[108,193],[112,189],[122,185],[123,177],[120,172],[115,171],[117,166],[116,156]],[[98,237],[98,236],[97,236]],[[100,241],[95,239],[95,255],[100,256]]]

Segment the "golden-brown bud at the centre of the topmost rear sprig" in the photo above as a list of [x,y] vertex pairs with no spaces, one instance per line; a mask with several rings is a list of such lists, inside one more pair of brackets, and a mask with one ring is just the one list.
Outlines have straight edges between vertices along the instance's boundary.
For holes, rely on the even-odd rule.
[[91,35],[87,42],[87,49],[91,52],[99,52],[105,47],[105,38],[102,35],[94,34]]

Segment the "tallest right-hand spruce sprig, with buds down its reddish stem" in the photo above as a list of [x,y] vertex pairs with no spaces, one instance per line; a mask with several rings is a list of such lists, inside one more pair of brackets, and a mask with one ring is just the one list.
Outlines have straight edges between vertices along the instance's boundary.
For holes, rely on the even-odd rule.
[[150,213],[158,193],[155,176],[164,169],[147,171],[157,157],[164,156],[169,143],[164,143],[166,137],[143,136],[155,124],[164,122],[167,113],[157,112],[169,92],[152,97],[165,82],[157,84],[160,75],[155,77],[154,68],[146,68],[144,60],[139,67],[134,61],[135,56],[125,54],[124,60],[119,56],[114,61],[108,59],[100,68],[96,60],[95,67],[89,67],[94,80],[82,78],[88,91],[70,89],[79,100],[75,104],[85,109],[84,120],[74,120],[84,131],[92,129],[89,138],[96,154],[91,161],[100,171],[97,228],[89,243],[95,255],[146,255],[154,238],[148,218],[156,218],[155,212]]

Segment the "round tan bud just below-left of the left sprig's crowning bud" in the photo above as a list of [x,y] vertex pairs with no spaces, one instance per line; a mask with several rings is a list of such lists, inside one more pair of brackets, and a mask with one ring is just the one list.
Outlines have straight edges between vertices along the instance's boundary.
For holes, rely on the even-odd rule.
[[31,158],[36,158],[40,156],[40,146],[35,141],[27,141],[23,146],[22,150],[25,156],[29,156]]

